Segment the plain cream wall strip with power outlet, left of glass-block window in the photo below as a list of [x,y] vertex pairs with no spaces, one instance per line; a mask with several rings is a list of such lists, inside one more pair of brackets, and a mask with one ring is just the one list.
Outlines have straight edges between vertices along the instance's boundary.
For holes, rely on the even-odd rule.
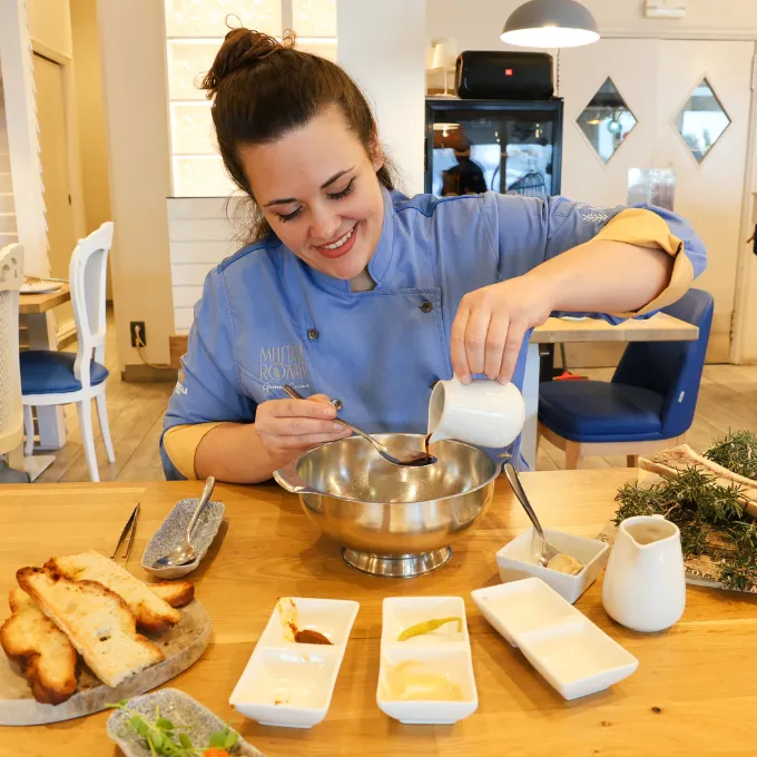
[[174,333],[168,256],[168,114],[163,2],[98,0],[118,361],[140,363],[129,322],[145,321],[147,357],[168,363]]

